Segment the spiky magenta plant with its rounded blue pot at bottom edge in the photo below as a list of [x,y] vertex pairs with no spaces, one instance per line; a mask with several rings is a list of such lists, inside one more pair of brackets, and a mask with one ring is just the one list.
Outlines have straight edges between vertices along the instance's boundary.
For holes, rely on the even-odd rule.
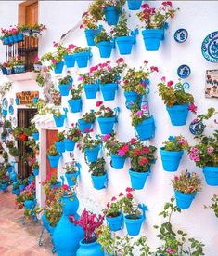
[[96,215],[84,209],[79,220],[72,217],[74,216],[71,216],[71,222],[75,225],[80,225],[84,231],[83,240],[80,242],[80,247],[76,251],[76,255],[84,256],[89,254],[104,256],[104,251],[101,250],[100,245],[96,242],[96,229],[102,225],[104,216],[100,214]]

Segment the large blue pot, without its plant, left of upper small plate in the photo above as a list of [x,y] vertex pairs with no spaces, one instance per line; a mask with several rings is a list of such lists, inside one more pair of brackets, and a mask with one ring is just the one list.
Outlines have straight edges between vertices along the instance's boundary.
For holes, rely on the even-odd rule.
[[147,51],[159,50],[160,42],[163,38],[163,29],[147,29],[142,31],[145,47]]

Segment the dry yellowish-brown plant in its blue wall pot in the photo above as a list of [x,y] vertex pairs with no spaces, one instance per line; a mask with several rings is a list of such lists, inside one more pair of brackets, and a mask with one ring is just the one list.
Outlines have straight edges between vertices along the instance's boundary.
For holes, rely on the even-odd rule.
[[201,189],[199,176],[195,172],[190,173],[186,170],[185,173],[175,176],[172,183],[177,207],[188,209]]

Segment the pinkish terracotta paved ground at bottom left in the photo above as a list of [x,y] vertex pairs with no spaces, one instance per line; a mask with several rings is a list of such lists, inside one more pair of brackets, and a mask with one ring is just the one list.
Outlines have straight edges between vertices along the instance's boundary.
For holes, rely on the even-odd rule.
[[23,209],[15,209],[15,195],[0,192],[0,256],[53,255],[50,236],[45,232],[43,246],[38,246],[41,224],[21,223]]

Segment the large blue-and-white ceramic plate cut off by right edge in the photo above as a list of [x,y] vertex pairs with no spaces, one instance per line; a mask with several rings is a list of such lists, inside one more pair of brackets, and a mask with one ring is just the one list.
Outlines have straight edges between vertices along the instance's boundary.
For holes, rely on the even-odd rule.
[[207,61],[218,62],[218,31],[212,32],[205,37],[201,52]]

